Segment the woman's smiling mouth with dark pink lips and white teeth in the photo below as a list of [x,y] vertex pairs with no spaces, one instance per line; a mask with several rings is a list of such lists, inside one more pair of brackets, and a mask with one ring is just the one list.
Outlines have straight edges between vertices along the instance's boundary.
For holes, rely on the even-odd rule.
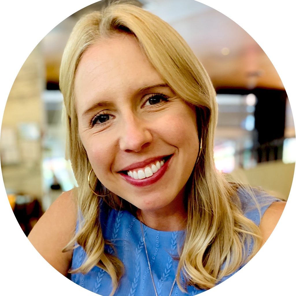
[[168,168],[172,155],[135,163],[120,171],[120,175],[134,186],[147,186],[158,181]]

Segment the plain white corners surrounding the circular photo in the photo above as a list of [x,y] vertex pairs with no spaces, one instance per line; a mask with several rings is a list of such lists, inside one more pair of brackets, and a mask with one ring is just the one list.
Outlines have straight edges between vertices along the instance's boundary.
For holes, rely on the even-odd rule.
[[[181,1],[181,0],[180,0]],[[59,22],[93,3],[89,0],[3,1],[1,8],[2,121],[13,81],[33,48]],[[278,71],[295,118],[295,4],[291,0],[200,0],[244,28]],[[17,117],[17,114],[15,114]],[[3,295],[95,295],[54,270],[22,233],[0,179],[1,286]],[[295,295],[295,192],[292,189],[276,229],[241,271],[202,295]],[[149,295],[148,295],[149,296]]]

